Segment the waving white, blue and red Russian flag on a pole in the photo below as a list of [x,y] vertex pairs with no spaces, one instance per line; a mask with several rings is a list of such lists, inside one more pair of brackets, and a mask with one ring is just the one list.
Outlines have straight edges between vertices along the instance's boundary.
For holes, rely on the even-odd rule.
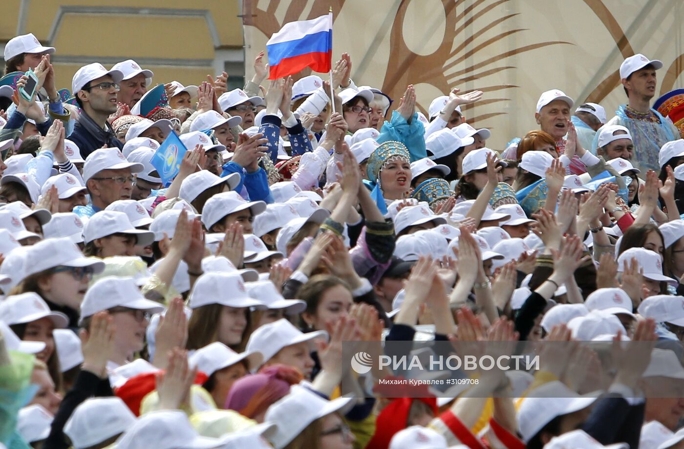
[[286,23],[266,42],[269,79],[295,74],[306,67],[314,72],[332,68],[332,12],[310,21]]

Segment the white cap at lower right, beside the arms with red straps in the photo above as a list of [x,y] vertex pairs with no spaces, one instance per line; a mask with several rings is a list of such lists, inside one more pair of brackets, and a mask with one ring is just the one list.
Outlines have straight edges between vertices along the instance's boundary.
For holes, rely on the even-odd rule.
[[530,392],[518,409],[518,431],[527,443],[557,416],[586,409],[596,398],[582,397],[560,381],[540,385]]

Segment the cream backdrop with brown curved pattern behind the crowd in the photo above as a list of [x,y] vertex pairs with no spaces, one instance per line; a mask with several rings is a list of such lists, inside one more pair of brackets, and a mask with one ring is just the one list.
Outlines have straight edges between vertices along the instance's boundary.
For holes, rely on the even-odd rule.
[[482,90],[464,113],[496,130],[492,148],[536,128],[534,106],[551,88],[601,103],[610,118],[625,103],[620,63],[635,53],[663,61],[657,96],[684,87],[677,0],[244,0],[248,77],[274,31],[330,6],[334,59],[350,53],[357,84],[399,98],[412,83],[423,112],[454,87]]

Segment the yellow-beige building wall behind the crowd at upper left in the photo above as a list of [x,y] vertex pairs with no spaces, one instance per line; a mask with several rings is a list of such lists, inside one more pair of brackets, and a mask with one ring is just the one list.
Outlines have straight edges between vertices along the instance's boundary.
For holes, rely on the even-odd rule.
[[57,49],[58,88],[70,89],[76,70],[90,62],[123,59],[155,72],[153,83],[197,84],[231,68],[244,73],[238,0],[3,0],[0,46],[18,33],[34,33]]

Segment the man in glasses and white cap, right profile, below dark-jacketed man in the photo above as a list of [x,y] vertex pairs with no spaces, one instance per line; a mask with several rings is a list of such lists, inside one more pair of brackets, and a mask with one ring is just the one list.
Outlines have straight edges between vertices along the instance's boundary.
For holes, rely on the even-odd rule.
[[77,206],[74,212],[81,217],[91,217],[116,200],[130,200],[135,173],[143,169],[142,163],[127,161],[118,148],[95,150],[83,165],[83,181],[90,194],[90,204]]

